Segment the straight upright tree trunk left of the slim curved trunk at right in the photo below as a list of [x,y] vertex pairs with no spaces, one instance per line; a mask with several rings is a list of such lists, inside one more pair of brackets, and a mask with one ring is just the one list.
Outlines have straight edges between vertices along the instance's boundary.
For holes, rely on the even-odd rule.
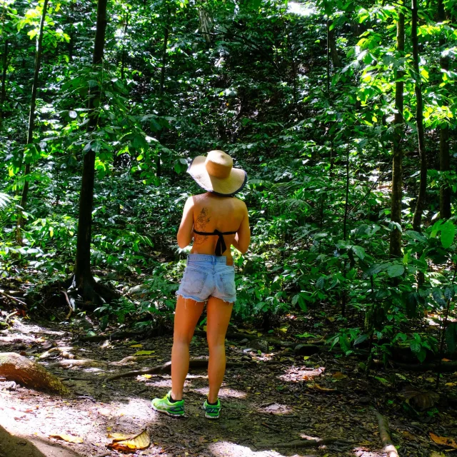
[[[398,11],[397,22],[397,51],[403,54],[405,50],[405,16]],[[393,135],[392,158],[392,196],[391,196],[391,221],[401,225],[401,199],[403,196],[403,151],[401,137],[403,136],[403,75],[404,71],[397,70],[395,83],[396,113],[393,120],[395,131]],[[401,256],[401,231],[393,228],[391,231],[389,254],[391,258]]]

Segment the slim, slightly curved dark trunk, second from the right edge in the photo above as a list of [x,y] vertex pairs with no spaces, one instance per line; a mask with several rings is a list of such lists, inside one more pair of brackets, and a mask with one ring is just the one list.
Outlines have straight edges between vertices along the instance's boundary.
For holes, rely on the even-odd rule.
[[422,81],[419,73],[419,52],[417,38],[417,23],[418,9],[417,0],[411,0],[411,40],[413,41],[413,61],[414,61],[414,91],[416,92],[416,126],[419,146],[419,158],[421,159],[421,181],[419,184],[419,192],[416,201],[416,209],[413,216],[413,229],[421,231],[421,221],[423,213],[423,204],[426,198],[427,191],[427,156],[426,156],[426,140],[423,135],[423,101],[422,101]]

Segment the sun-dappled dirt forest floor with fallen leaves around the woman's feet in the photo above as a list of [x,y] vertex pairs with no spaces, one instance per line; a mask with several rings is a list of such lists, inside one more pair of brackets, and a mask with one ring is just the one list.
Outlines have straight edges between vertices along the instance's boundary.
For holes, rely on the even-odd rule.
[[[307,325],[305,320],[291,320],[286,330],[293,336],[306,331]],[[288,337],[279,329],[276,332],[282,339]],[[106,378],[169,361],[171,336],[78,343],[76,333],[24,318],[0,332],[0,352],[35,358],[73,392],[60,398],[0,382],[1,457],[117,456],[118,451],[106,447],[112,441],[110,434],[135,436],[144,430],[151,444],[136,456],[381,457],[386,454],[374,408],[388,420],[400,456],[452,455],[443,453],[452,451],[452,446],[438,446],[429,433],[455,437],[457,411],[438,406],[433,413],[413,416],[401,396],[405,385],[431,391],[432,373],[386,369],[366,376],[356,357],[324,351],[303,358],[291,350],[270,347],[261,352],[250,349],[250,342],[228,341],[228,361],[241,366],[227,369],[219,421],[209,421],[201,411],[208,392],[204,371],[190,374],[186,381],[186,416],[170,418],[150,408],[151,398],[164,396],[171,387],[168,374]],[[61,350],[39,359],[51,348]],[[141,361],[130,358],[115,364],[138,351],[150,352]],[[206,356],[206,341],[194,336],[191,357]],[[447,373],[445,383],[457,383],[457,373]],[[50,438],[59,434],[64,440]],[[313,438],[326,441],[316,444],[310,442]],[[283,447],[296,440],[302,447]],[[40,451],[32,451],[34,446]]]

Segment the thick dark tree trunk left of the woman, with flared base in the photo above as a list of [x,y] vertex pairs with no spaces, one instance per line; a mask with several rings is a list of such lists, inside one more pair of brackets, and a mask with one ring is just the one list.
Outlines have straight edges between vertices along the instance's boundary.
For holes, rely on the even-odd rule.
[[[101,66],[104,56],[106,33],[106,4],[108,0],[99,0],[97,5],[97,22],[94,43],[94,67]],[[100,89],[89,94],[88,131],[94,131],[99,121],[98,106],[94,103]],[[76,242],[76,266],[74,286],[84,298],[94,298],[94,277],[91,273],[91,238],[92,238],[92,207],[94,203],[95,151],[86,153],[83,162],[81,194],[79,196],[78,241]]]

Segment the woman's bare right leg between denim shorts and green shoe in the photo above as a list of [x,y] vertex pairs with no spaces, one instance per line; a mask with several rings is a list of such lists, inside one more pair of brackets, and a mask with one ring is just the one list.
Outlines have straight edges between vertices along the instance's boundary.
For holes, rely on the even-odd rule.
[[226,371],[226,332],[229,326],[233,303],[226,303],[221,298],[209,297],[206,313],[206,338],[209,347],[209,395],[208,401],[215,403]]

